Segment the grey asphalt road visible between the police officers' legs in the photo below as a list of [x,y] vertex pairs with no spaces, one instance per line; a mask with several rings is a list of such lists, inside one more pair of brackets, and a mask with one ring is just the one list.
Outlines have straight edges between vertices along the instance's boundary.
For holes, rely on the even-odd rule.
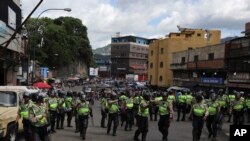
[[[81,87],[75,87],[73,90],[80,91]],[[89,120],[89,128],[87,129],[86,140],[88,141],[132,141],[136,127],[133,127],[132,131],[124,131],[124,125],[121,127],[119,125],[117,136],[106,134],[106,128],[100,127],[100,104],[98,101],[95,102],[93,106],[94,114],[94,125],[91,124]],[[176,114],[175,114],[176,115]],[[175,118],[176,119],[176,118]],[[74,120],[72,120],[72,125],[74,125]],[[65,124],[66,125],[66,124]],[[228,141],[229,138],[223,133],[218,133],[216,141]],[[201,141],[210,141],[207,138],[207,129],[204,126]],[[74,133],[74,127],[65,127],[64,130],[57,130],[57,133],[51,135],[52,141],[78,141],[81,140],[79,133]],[[161,134],[158,131],[158,122],[149,121],[149,132],[147,135],[148,141],[161,141]],[[172,121],[169,128],[169,141],[191,141],[192,140],[192,123],[190,121],[176,122]],[[20,137],[18,141],[24,141],[23,137]]]

